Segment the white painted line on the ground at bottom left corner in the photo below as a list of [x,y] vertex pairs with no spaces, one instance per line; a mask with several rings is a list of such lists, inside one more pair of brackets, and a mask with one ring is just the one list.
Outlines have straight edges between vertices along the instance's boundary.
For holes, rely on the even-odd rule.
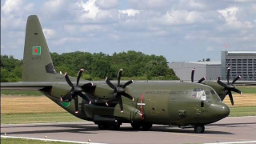
[[70,142],[70,143],[81,143],[81,144],[104,144],[104,143],[95,143],[95,142],[77,142],[77,141],[66,141],[66,140],[58,140],[58,139],[47,139],[47,138],[27,138],[27,137],[15,137],[15,136],[6,136],[6,135],[1,135],[1,138],[22,138],[22,139],[30,139],[30,140],[38,140],[38,141],[48,141],[48,142]]

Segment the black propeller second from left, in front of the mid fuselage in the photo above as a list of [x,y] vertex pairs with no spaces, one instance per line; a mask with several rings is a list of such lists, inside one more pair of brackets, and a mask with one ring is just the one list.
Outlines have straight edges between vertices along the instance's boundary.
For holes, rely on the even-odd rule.
[[130,80],[126,82],[123,86],[120,86],[120,79],[122,76],[122,69],[118,72],[118,86],[114,86],[112,82],[110,82],[110,79],[106,77],[106,84],[110,86],[114,90],[114,94],[110,97],[110,99],[106,102],[106,106],[109,106],[109,102],[112,102],[114,98],[118,99],[119,106],[121,109],[121,113],[123,112],[123,106],[122,106],[122,97],[125,96],[126,98],[130,98],[132,101],[134,101],[134,98],[130,96],[130,94],[127,94],[125,91],[126,86],[129,86],[131,83],[133,83],[133,80]]

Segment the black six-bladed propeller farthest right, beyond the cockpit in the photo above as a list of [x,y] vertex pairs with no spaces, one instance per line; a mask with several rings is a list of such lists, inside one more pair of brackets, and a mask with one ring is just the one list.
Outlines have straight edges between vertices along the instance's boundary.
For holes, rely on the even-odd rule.
[[238,94],[242,94],[242,92],[240,90],[238,90],[234,87],[234,82],[236,82],[239,78],[241,78],[240,75],[238,75],[236,78],[234,78],[233,82],[230,83],[230,68],[227,68],[227,74],[226,74],[227,83],[223,83],[219,77],[217,78],[218,84],[220,86],[224,87],[224,92],[222,93],[222,97],[221,97],[222,101],[226,97],[226,95],[229,94],[230,102],[231,102],[232,106],[234,106],[234,99],[233,99],[233,95],[232,95],[231,91],[234,91]]

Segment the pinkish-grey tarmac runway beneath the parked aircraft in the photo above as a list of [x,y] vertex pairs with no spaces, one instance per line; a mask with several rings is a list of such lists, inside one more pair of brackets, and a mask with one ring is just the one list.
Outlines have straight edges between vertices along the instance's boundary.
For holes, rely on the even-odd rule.
[[93,122],[1,125],[1,135],[97,143],[256,143],[256,117],[229,117],[206,125],[204,134],[194,129],[154,125],[150,131],[133,130],[122,124],[120,130],[98,130]]

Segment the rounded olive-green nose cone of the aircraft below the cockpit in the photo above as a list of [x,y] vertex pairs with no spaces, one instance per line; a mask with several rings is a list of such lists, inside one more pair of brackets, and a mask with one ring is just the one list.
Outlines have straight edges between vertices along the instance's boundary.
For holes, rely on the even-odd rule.
[[230,108],[225,103],[214,104],[211,107],[214,110],[215,118],[218,120],[226,118],[230,114]]

